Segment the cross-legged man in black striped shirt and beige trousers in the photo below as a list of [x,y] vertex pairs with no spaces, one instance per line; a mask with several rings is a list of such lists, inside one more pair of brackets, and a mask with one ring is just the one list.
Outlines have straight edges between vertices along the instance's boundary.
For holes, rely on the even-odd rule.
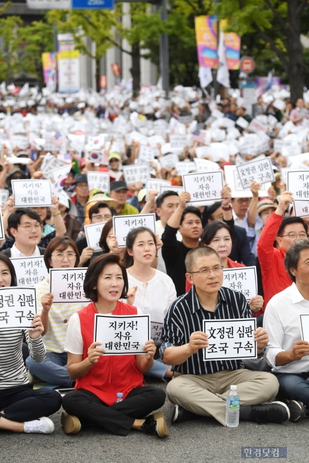
[[[226,397],[231,384],[237,385],[241,420],[279,423],[297,418],[286,404],[269,402],[279,389],[272,373],[242,368],[240,348],[243,343],[248,347],[248,341],[244,342],[243,331],[238,331],[233,323],[252,318],[251,310],[241,292],[222,287],[219,254],[209,246],[197,247],[187,253],[185,266],[186,278],[193,286],[171,304],[164,319],[160,347],[163,362],[174,365],[173,379],[166,388],[169,400],[176,404],[172,423],[192,419],[197,414],[212,416],[225,426]],[[215,333],[204,330],[205,321],[215,320],[230,322],[230,331],[223,338],[227,345],[237,348],[233,348],[234,357],[227,360],[222,332],[213,344]],[[256,343],[259,354],[267,345],[267,331],[259,327],[251,332],[250,339],[250,349]],[[222,359],[207,360],[212,344],[217,345]]]

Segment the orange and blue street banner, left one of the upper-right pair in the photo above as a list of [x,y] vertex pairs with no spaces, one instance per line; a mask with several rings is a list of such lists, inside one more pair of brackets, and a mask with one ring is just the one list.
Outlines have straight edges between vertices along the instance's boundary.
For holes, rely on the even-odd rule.
[[202,68],[217,68],[217,17],[197,16],[194,21],[199,66]]

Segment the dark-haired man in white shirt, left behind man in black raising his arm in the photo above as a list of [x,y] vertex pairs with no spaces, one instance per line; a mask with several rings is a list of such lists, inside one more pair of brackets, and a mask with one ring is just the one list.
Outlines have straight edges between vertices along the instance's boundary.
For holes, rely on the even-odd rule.
[[[156,198],[156,215],[159,217],[159,220],[155,222],[155,233],[161,238],[166,222],[174,214],[179,205],[179,196],[178,193],[173,190],[168,190],[163,192]],[[180,232],[177,232],[176,238],[178,241],[182,240]],[[158,260],[156,268],[161,272],[166,273],[166,266],[164,259],[162,257],[162,248],[158,249]]]

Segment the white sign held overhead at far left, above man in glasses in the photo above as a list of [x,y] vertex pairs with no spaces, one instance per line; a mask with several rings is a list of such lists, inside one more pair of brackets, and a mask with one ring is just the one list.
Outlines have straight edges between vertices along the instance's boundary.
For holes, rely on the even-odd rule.
[[15,207],[52,206],[50,180],[12,180]]

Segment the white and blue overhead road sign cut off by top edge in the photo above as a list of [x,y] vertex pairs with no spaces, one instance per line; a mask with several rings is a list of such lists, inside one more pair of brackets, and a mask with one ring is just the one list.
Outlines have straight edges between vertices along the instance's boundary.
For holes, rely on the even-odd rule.
[[92,10],[113,9],[114,0],[26,0],[35,10]]

